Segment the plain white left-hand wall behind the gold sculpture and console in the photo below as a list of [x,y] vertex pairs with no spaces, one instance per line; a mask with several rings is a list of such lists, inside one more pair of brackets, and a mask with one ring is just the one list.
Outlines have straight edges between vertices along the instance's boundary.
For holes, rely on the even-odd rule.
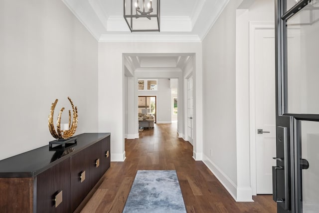
[[93,36],[60,0],[1,0],[0,14],[0,159],[54,139],[48,116],[56,98],[56,111],[71,109],[67,96],[78,107],[76,134],[97,132]]

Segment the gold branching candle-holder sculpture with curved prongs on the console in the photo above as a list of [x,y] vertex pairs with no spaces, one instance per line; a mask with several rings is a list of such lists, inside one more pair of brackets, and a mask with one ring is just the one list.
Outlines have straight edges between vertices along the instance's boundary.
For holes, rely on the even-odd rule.
[[59,116],[58,116],[58,120],[57,120],[57,124],[56,124],[56,131],[53,125],[53,114],[54,114],[54,108],[56,106],[56,103],[58,102],[58,99],[56,99],[54,101],[54,103],[52,103],[51,105],[51,110],[50,110],[50,115],[49,115],[49,130],[51,135],[53,136],[53,138],[56,139],[62,139],[62,140],[66,140],[71,138],[74,133],[75,130],[78,126],[78,109],[77,107],[74,107],[73,102],[71,100],[71,98],[69,98],[69,101],[71,103],[72,106],[72,111],[73,111],[73,120],[72,120],[72,124],[71,124],[71,110],[69,110],[69,128],[68,130],[61,130],[61,116],[62,116],[62,112],[64,110],[64,107],[62,107],[62,109],[60,110]]

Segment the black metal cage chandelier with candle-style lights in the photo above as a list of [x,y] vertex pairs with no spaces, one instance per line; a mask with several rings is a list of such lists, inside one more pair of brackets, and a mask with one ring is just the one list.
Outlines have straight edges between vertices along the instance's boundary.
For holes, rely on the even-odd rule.
[[124,19],[131,32],[159,32],[160,0],[124,0]]

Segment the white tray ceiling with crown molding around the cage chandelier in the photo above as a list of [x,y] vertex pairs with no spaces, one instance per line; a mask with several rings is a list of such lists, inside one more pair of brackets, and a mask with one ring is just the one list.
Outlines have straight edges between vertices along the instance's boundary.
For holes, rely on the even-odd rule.
[[123,17],[123,0],[62,1],[98,41],[200,42],[229,0],[161,0],[160,32],[133,33]]

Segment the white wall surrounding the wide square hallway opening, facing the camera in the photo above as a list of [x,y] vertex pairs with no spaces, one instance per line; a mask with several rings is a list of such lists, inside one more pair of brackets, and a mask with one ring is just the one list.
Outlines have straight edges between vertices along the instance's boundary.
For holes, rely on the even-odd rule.
[[[99,43],[99,131],[111,132],[112,161],[123,161],[124,150],[124,65],[123,53],[191,53],[196,54],[196,84],[201,85],[201,43],[191,42],[101,42]],[[137,85],[136,85],[137,86]],[[196,85],[195,85],[196,86]],[[198,108],[201,109],[201,87],[196,87]],[[111,104],[116,102],[117,104]],[[196,119],[201,129],[201,113]],[[137,115],[137,114],[136,114]],[[194,144],[194,153],[202,152],[201,132],[199,143]],[[195,156],[196,159],[196,156]]]

